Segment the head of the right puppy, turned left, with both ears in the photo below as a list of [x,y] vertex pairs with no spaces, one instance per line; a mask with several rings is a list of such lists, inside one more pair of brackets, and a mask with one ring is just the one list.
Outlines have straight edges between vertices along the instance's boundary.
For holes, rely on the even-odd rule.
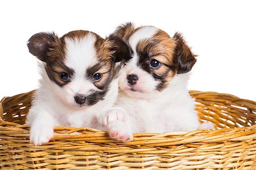
[[123,67],[119,87],[130,96],[148,96],[168,87],[175,74],[187,73],[195,56],[180,33],[170,37],[151,26],[134,28],[127,23],[118,27],[115,36],[129,45],[132,59]]

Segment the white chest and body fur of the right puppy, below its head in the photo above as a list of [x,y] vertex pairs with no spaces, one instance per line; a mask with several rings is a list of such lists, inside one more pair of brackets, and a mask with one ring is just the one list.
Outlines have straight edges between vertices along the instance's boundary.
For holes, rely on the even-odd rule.
[[[125,92],[118,95],[117,105],[126,109],[133,133],[191,131],[199,126],[193,99],[187,90],[187,74],[176,74],[162,92],[130,97]],[[133,92],[132,92],[133,93]],[[139,97],[141,96],[141,97]]]

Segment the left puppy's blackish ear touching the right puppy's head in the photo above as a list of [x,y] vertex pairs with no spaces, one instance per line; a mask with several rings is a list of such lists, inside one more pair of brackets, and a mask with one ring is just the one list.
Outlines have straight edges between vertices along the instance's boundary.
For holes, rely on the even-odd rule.
[[111,51],[113,52],[114,62],[127,62],[131,59],[130,48],[120,37],[110,35],[108,37],[113,42]]

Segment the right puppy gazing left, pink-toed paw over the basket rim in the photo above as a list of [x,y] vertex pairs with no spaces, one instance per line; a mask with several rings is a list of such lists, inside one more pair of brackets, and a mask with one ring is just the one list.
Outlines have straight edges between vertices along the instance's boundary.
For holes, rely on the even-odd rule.
[[131,133],[214,129],[200,125],[194,111],[187,81],[196,58],[180,33],[170,37],[156,27],[127,23],[114,35],[129,45],[132,58],[119,76],[119,109],[102,120],[110,137],[129,142]]

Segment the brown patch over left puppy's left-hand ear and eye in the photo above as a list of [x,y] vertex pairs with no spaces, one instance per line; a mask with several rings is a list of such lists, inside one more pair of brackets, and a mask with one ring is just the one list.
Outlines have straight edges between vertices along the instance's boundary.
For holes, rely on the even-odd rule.
[[46,73],[50,80],[62,87],[69,81],[60,79],[60,73],[67,73],[70,77],[74,71],[64,65],[65,42],[55,33],[40,32],[33,35],[27,43],[29,52],[43,62],[46,62]]

